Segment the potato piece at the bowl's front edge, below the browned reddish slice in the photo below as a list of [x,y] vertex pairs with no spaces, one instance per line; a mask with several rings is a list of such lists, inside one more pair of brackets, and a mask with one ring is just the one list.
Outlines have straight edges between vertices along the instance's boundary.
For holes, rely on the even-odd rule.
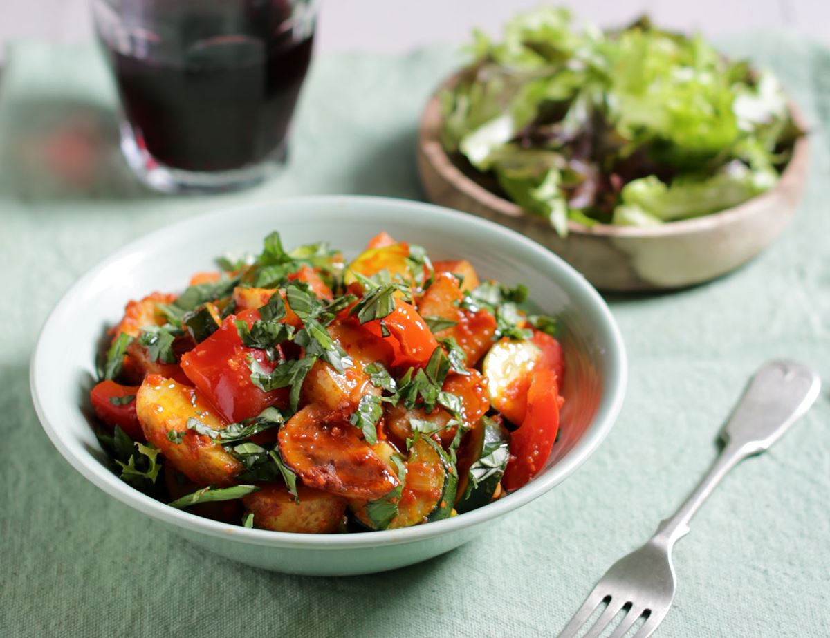
[[272,532],[334,533],[346,511],[346,499],[335,494],[297,485],[300,502],[284,485],[264,485],[242,498],[246,511],[254,515],[254,527]]

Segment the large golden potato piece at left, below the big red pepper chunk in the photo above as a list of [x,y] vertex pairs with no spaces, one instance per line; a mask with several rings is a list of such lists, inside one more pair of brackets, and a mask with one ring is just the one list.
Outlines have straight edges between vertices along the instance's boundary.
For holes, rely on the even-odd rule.
[[[233,485],[242,464],[210,437],[188,430],[189,418],[217,430],[227,426],[193,387],[150,374],[136,394],[135,412],[147,441],[188,479],[198,485]],[[184,433],[182,442],[170,441],[170,431]]]

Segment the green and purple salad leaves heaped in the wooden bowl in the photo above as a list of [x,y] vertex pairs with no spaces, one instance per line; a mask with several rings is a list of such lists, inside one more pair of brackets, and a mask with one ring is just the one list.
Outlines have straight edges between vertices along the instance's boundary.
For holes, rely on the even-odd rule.
[[442,144],[564,235],[568,222],[652,226],[773,188],[802,131],[768,71],[641,18],[579,29],[565,9],[476,33],[442,95]]

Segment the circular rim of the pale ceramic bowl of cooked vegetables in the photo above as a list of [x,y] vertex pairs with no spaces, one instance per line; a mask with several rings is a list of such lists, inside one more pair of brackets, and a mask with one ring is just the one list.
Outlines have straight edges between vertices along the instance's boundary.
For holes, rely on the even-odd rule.
[[[595,330],[600,334],[601,341],[608,344],[604,351],[603,378],[606,379],[603,386],[602,397],[598,405],[597,413],[588,425],[583,436],[577,441],[569,452],[559,459],[556,464],[542,477],[531,480],[530,483],[517,489],[515,492],[487,504],[479,509],[474,509],[465,514],[459,514],[451,519],[434,521],[429,524],[417,525],[409,528],[383,530],[366,533],[339,533],[339,534],[304,534],[293,532],[273,532],[265,529],[243,528],[239,525],[220,523],[212,519],[206,519],[196,514],[191,514],[183,509],[174,509],[152,497],[139,492],[138,489],[127,485],[120,480],[109,468],[91,455],[82,457],[76,455],[64,441],[68,438],[61,431],[56,423],[50,421],[42,396],[48,388],[43,387],[41,382],[41,370],[46,369],[51,362],[51,352],[46,350],[46,335],[55,330],[61,330],[61,317],[66,313],[67,308],[72,304],[76,292],[85,289],[101,271],[110,265],[125,260],[130,255],[135,255],[152,250],[155,241],[171,232],[178,235],[177,231],[186,231],[190,226],[207,225],[208,220],[222,221],[247,212],[256,211],[262,207],[271,207],[271,210],[278,211],[280,207],[308,206],[328,207],[335,209],[338,206],[354,204],[360,207],[397,207],[401,212],[410,212],[423,217],[452,218],[454,222],[460,222],[470,226],[478,226],[488,232],[498,232],[502,238],[518,244],[522,250],[534,253],[548,260],[551,265],[552,275],[558,285],[568,295],[578,300],[580,304],[592,307],[593,316],[596,321]],[[276,216],[275,216],[276,217]],[[275,224],[277,223],[275,219]],[[41,328],[40,336],[32,353],[30,363],[30,389],[32,402],[41,421],[43,430],[49,437],[52,445],[61,455],[87,480],[102,489],[105,493],[115,497],[122,503],[149,514],[154,519],[172,524],[175,527],[183,528],[190,532],[206,534],[214,538],[225,540],[242,541],[248,544],[281,548],[315,548],[315,549],[344,549],[344,548],[367,548],[383,545],[397,545],[413,543],[427,538],[435,538],[445,533],[460,531],[476,524],[485,523],[488,520],[496,519],[502,514],[530,503],[558,485],[562,480],[571,475],[579,465],[582,465],[588,456],[593,454],[599,444],[608,435],[613,427],[618,414],[623,406],[623,399],[627,387],[627,354],[623,343],[622,335],[613,319],[608,305],[602,297],[582,275],[574,270],[559,256],[540,246],[535,241],[512,231],[509,228],[500,226],[496,222],[481,219],[468,215],[464,212],[452,210],[447,207],[440,207],[425,202],[398,199],[394,197],[373,197],[373,196],[306,196],[306,197],[277,197],[256,202],[246,202],[231,207],[218,207],[207,212],[192,215],[158,230],[149,232],[133,241],[96,265],[87,270],[79,280],[70,286],[68,290],[57,301]],[[77,409],[74,405],[72,409]],[[88,453],[87,453],[88,454]],[[93,463],[90,464],[90,460]],[[96,467],[94,467],[95,465]],[[103,471],[100,471],[103,470]]]

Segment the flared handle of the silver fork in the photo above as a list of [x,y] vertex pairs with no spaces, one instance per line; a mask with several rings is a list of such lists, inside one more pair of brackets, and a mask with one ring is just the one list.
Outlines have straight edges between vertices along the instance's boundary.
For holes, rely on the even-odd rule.
[[771,361],[755,373],[720,438],[724,447],[681,508],[663,520],[653,540],[669,548],[689,533],[689,521],[720,480],[747,456],[769,449],[818,397],[818,374],[800,363]]

